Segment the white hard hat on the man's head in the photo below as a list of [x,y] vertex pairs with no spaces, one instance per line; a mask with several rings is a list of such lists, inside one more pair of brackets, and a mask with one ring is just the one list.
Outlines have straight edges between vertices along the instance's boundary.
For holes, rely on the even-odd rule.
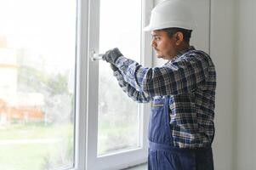
[[164,28],[183,28],[194,30],[196,23],[191,11],[184,0],[165,0],[158,3],[151,11],[150,25],[144,31],[154,31]]

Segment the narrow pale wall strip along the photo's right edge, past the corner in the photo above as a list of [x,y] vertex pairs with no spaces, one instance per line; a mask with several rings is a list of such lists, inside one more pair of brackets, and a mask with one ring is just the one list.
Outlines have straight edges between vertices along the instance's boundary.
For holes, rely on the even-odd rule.
[[256,1],[236,1],[236,169],[256,169]]

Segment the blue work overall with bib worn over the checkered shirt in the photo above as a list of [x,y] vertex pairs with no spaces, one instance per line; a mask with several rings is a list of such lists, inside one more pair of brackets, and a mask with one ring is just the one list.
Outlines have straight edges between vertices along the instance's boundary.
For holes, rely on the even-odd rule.
[[213,170],[212,148],[174,147],[169,127],[169,97],[154,99],[149,124],[148,170]]

